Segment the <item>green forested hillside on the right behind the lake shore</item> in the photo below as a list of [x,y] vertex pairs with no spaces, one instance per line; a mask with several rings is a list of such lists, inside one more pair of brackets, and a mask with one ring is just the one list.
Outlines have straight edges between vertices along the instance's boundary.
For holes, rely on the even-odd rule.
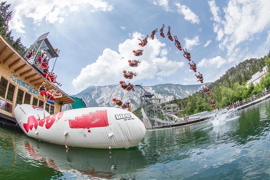
[[[199,91],[188,98],[173,100],[170,103],[176,103],[181,110],[185,110],[182,116],[203,112],[206,110],[213,110],[210,108],[208,100],[214,98],[216,100],[216,107],[226,107],[229,105],[229,96],[231,103],[250,98],[253,94],[259,94],[264,88],[270,88],[270,73],[268,72],[262,78],[259,84],[253,83],[247,88],[245,85],[251,76],[258,71],[262,71],[262,67],[268,65],[270,67],[270,51],[260,59],[251,58],[240,62],[235,67],[231,67],[226,73],[213,82],[209,87],[211,90],[211,97],[204,95],[204,91]],[[229,94],[229,96],[228,96]]]

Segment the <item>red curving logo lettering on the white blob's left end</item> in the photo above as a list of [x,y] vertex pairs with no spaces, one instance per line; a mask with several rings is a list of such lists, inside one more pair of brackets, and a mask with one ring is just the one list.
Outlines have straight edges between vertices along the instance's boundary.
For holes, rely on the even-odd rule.
[[29,116],[27,123],[22,124],[22,126],[25,129],[25,131],[28,133],[29,129],[32,130],[33,127],[35,127],[35,130],[37,130],[38,125],[43,127],[44,123],[46,122],[45,127],[49,129],[53,125],[56,119],[57,119],[56,121],[58,121],[61,117],[63,117],[63,114],[64,112],[57,113],[52,116],[48,116],[44,119],[41,119],[39,121],[35,118],[35,116]]

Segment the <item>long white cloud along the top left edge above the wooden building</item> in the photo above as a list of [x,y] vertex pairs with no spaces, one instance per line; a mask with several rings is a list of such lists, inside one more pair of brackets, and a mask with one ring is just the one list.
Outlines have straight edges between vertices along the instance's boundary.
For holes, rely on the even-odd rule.
[[23,18],[25,17],[33,19],[33,22],[37,25],[41,25],[44,20],[52,24],[55,22],[62,23],[64,22],[63,16],[67,16],[66,12],[79,11],[83,6],[89,6],[88,10],[91,12],[111,11],[113,9],[112,5],[102,0],[46,1],[46,3],[41,0],[14,1],[11,5],[13,17],[9,22],[9,27],[15,29],[16,32],[25,33],[23,30],[25,28]]

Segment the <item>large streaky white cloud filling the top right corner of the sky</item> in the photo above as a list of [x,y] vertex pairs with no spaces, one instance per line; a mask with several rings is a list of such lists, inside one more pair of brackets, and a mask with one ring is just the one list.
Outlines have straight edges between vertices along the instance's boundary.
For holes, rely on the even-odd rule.
[[[233,59],[238,61],[243,57],[247,48],[238,49],[241,43],[252,40],[269,27],[269,3],[265,3],[265,0],[229,0],[227,6],[222,9],[225,14],[222,17],[215,1],[208,1],[214,20],[214,32],[217,33],[216,40],[220,41],[218,47],[227,50],[228,62]],[[238,51],[235,52],[234,49]]]

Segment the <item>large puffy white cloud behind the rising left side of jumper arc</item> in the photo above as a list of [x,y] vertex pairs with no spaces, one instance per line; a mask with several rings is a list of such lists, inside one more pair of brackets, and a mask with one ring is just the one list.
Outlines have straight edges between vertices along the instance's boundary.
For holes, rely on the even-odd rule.
[[[139,47],[137,38],[143,37],[144,35],[134,32],[131,39],[119,44],[119,52],[109,48],[104,49],[102,55],[94,63],[82,68],[76,79],[73,79],[73,86],[82,90],[90,85],[119,84],[120,80],[125,79],[123,70],[138,73],[138,76],[128,80],[134,83],[137,80],[153,79],[156,76],[170,76],[184,65],[184,62],[168,60],[166,44],[161,43],[157,38],[143,47],[142,56],[134,56],[132,50]],[[130,67],[128,59],[140,59],[141,63],[138,67]]]

